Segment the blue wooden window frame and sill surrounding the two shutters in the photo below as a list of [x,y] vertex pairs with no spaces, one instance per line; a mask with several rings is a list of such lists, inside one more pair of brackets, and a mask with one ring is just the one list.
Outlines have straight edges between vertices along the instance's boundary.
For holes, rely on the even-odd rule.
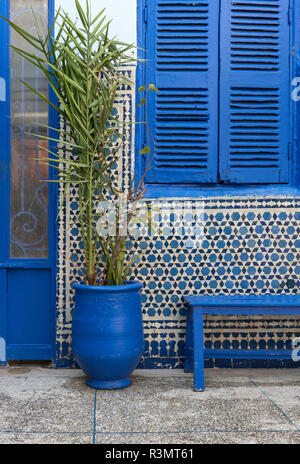
[[[146,20],[149,0],[140,0],[137,6],[137,46],[138,64],[136,70],[136,118],[137,122],[145,120],[144,106],[138,107],[140,94],[138,88],[146,82]],[[290,0],[290,83],[300,76],[300,2]],[[298,63],[298,65],[297,65]],[[154,82],[155,84],[155,82]],[[290,84],[290,92],[293,87]],[[145,183],[146,198],[203,198],[224,196],[297,196],[300,193],[300,102],[290,98],[290,149],[289,149],[289,183],[287,184],[150,184]],[[143,124],[135,129],[135,174],[136,184],[144,171],[144,159],[139,150],[145,144]]]

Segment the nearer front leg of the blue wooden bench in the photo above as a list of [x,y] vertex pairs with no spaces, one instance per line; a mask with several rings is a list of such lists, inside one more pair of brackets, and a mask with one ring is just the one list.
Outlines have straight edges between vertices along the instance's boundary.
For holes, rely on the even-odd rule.
[[194,338],[194,390],[204,391],[204,334],[203,313],[193,310],[193,338]]

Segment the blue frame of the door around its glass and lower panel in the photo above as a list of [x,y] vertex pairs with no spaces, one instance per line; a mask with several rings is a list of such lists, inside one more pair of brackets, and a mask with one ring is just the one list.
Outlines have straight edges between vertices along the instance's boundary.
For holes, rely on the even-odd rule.
[[[52,24],[54,19],[55,0],[48,0],[48,23]],[[10,14],[10,0],[2,0],[0,3],[0,15],[6,18]],[[22,345],[13,345],[11,349],[6,346],[6,359],[1,360],[0,365],[6,364],[10,359],[15,360],[52,360],[56,359],[56,273],[57,273],[57,213],[58,213],[58,187],[56,183],[49,184],[49,255],[48,258],[10,258],[10,56],[9,47],[10,31],[9,25],[0,20],[0,40],[3,46],[0,49],[0,77],[6,83],[6,100],[0,101],[0,114],[5,115],[0,124],[0,217],[2,218],[1,240],[0,240],[0,342],[7,340],[8,332],[8,279],[10,269],[32,269],[51,271],[51,346],[47,349],[41,346],[38,358],[36,352],[38,345],[27,348],[26,355],[22,356]],[[3,81],[2,81],[3,82]],[[52,89],[49,89],[52,101],[56,97]],[[49,108],[49,126],[58,127],[58,115],[54,108]],[[53,134],[54,135],[54,134]],[[50,133],[50,136],[53,136]],[[49,149],[55,151],[55,144],[49,143]],[[55,178],[53,169],[49,169],[49,178]],[[1,354],[1,353],[0,353]],[[21,357],[20,357],[21,356]]]

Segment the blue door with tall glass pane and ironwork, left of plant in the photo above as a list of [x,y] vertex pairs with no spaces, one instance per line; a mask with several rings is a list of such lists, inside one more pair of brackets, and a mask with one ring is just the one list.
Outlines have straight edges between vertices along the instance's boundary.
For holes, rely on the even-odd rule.
[[[47,26],[52,1],[0,2],[0,14],[30,32],[32,8],[39,26]],[[47,142],[32,135],[45,135],[53,115],[20,80],[49,90],[39,72],[9,49],[9,43],[25,43],[3,20],[0,40],[0,362],[53,360],[56,192],[45,182],[49,167],[39,161]]]

